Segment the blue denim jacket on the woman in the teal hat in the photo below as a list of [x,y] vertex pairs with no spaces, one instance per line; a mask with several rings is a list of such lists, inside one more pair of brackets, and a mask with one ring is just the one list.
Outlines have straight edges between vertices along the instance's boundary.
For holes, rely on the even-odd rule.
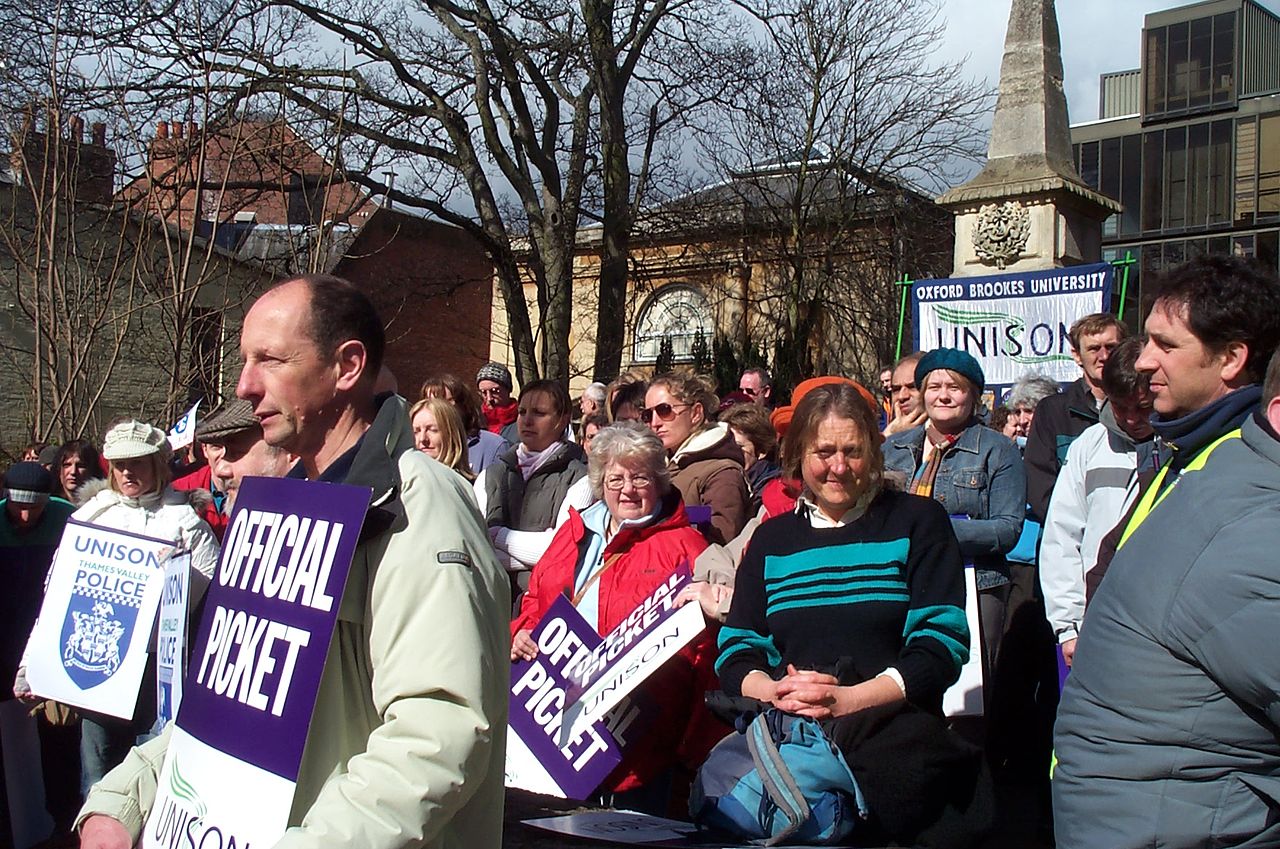
[[[910,481],[923,447],[924,425],[893,434],[884,441],[884,469]],[[1018,446],[980,424],[969,425],[942,458],[933,498],[951,513],[960,554],[978,570],[978,589],[1007,583],[1005,554],[1018,543],[1027,515],[1027,471]]]

